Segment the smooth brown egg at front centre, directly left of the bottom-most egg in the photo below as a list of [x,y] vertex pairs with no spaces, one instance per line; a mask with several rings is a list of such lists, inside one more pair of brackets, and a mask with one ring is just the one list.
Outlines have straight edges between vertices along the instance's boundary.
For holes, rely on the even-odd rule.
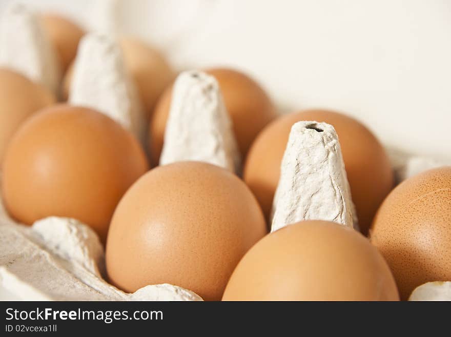
[[127,292],[170,283],[220,300],[238,261],[265,234],[255,197],[233,173],[201,162],[159,166],[117,206],[108,276]]

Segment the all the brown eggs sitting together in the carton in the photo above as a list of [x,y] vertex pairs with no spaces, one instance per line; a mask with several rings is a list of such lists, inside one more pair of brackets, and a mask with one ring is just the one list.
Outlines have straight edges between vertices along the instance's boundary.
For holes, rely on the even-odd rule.
[[[44,22],[68,70],[67,95],[83,30],[57,16]],[[243,179],[197,162],[149,171],[163,146],[174,75],[150,47],[122,41],[148,112],[148,149],[104,114],[55,104],[43,87],[0,70],[2,196],[14,219],[58,215],[90,225],[106,242],[109,281],[130,292],[171,283],[206,300],[397,300],[398,290],[406,299],[424,282],[451,279],[451,169],[391,192],[384,148],[360,122],[324,110],[278,116],[267,93],[239,71],[207,70],[233,122]],[[359,225],[373,245],[320,221],[267,234],[290,129],[303,120],[335,127]]]

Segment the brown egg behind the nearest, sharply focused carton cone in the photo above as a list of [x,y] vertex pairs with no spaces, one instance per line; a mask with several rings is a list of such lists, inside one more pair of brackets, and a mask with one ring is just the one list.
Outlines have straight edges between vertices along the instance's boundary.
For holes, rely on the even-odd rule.
[[279,117],[263,129],[252,145],[244,165],[244,181],[269,218],[286,142],[292,125],[299,121],[325,122],[335,127],[360,230],[366,235],[377,208],[393,187],[393,171],[377,138],[354,118],[326,110]]

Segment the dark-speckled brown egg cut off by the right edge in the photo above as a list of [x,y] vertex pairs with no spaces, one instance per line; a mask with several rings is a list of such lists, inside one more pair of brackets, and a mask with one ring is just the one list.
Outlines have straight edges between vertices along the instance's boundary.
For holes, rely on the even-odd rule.
[[451,280],[451,167],[420,173],[398,185],[370,230],[393,271],[401,299],[419,285]]

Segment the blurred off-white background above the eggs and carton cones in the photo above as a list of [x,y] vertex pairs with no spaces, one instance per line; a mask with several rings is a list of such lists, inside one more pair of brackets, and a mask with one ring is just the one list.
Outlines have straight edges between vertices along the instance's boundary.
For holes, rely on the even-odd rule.
[[138,35],[177,69],[241,68],[280,111],[342,110],[386,145],[451,158],[451,1],[22,3],[65,13],[88,29]]

